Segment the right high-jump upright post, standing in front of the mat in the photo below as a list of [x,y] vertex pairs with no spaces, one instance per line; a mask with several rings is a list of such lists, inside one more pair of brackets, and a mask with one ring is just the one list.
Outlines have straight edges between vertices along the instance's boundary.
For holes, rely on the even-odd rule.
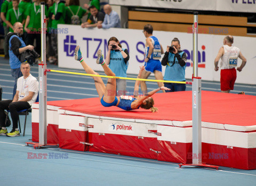
[[202,118],[201,118],[201,77],[198,77],[198,52],[197,52],[197,29],[198,29],[198,12],[194,12],[194,30],[193,30],[193,164],[202,164]]

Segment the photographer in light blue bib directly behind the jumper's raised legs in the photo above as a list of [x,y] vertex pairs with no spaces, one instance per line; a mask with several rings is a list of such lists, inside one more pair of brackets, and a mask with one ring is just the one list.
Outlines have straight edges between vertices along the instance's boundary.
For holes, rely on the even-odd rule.
[[[110,37],[108,41],[108,53],[106,56],[106,64],[118,77],[127,77],[126,71],[128,67],[129,52],[126,48],[122,48],[116,37]],[[116,79],[116,94],[118,96],[125,95],[126,80]]]

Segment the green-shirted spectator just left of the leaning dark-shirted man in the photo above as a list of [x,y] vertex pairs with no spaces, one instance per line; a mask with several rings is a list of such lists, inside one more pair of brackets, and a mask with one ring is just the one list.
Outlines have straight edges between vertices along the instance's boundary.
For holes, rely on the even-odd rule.
[[70,0],[66,7],[66,24],[81,25],[81,19],[87,11],[82,9],[79,0]]

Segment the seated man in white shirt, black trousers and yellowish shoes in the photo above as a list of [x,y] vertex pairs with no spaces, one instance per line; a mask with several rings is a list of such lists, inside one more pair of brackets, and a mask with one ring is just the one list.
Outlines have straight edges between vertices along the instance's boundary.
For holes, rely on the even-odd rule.
[[[0,135],[6,135],[10,137],[19,136],[18,130],[18,111],[23,109],[29,109],[31,104],[36,102],[38,95],[38,81],[32,76],[30,72],[30,65],[28,62],[23,62],[20,65],[22,77],[17,81],[17,91],[13,100],[0,101]],[[10,110],[12,117],[12,131],[7,132],[5,127],[5,114],[4,110]]]

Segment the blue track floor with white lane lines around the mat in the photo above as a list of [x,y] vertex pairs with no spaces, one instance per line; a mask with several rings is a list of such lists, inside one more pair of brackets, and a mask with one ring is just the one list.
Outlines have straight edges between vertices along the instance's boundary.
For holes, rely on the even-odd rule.
[[[75,62],[75,61],[74,61]],[[90,64],[90,63],[89,63]],[[59,69],[47,64],[49,69]],[[3,99],[12,98],[13,78],[9,62],[0,58],[0,85]],[[31,74],[38,76],[38,66],[31,67]],[[100,74],[103,75],[102,72]],[[135,77],[130,75],[129,77]],[[152,77],[153,78],[153,77]],[[147,83],[148,90],[157,87]],[[127,81],[127,89],[133,90],[134,81]],[[218,82],[202,83],[202,89],[220,92]],[[191,90],[191,86],[187,86]],[[244,91],[256,95],[255,85],[235,84],[232,93]],[[98,96],[91,77],[47,73],[47,100],[83,99]],[[20,116],[21,128],[25,116]],[[11,130],[11,126],[7,128]],[[256,170],[244,171],[220,167],[219,171],[207,168],[178,168],[178,164],[106,153],[69,151],[59,148],[34,150],[24,146],[31,139],[31,114],[28,116],[26,135],[15,138],[0,136],[1,185],[255,185]],[[46,153],[46,159],[29,159],[30,153]],[[67,159],[50,159],[67,153]]]

